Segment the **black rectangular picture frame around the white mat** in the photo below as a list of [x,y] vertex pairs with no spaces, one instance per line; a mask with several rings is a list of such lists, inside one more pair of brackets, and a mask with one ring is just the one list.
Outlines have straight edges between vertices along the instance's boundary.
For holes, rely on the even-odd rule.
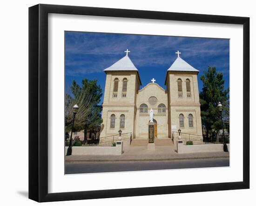
[[[48,13],[243,25],[243,181],[48,193]],[[249,18],[39,4],[29,8],[29,199],[99,199],[249,188]]]

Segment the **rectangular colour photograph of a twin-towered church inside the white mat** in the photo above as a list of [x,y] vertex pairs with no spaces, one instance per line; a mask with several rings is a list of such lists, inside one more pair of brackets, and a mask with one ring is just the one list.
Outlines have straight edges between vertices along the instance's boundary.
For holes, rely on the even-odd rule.
[[64,140],[66,174],[229,166],[229,39],[66,31]]

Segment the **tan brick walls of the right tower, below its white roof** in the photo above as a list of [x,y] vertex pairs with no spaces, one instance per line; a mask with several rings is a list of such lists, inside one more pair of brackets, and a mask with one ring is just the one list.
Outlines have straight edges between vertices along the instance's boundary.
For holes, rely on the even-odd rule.
[[[179,96],[177,88],[178,79],[182,80],[182,97]],[[189,80],[190,82],[190,93],[187,92],[186,80]],[[183,133],[202,135],[202,121],[197,83],[197,73],[169,71],[167,73],[166,85],[169,91],[169,131],[176,132],[180,128]],[[180,126],[180,114],[183,114],[184,116],[183,126]],[[191,114],[193,118],[192,126],[189,126],[189,115]]]

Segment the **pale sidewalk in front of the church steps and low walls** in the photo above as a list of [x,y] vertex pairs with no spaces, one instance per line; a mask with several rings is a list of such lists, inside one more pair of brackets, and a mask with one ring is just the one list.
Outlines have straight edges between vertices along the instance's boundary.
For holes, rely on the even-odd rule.
[[88,161],[147,161],[147,160],[182,160],[182,159],[214,159],[229,158],[229,153],[183,153],[175,152],[176,146],[155,146],[155,150],[147,146],[125,146],[121,155],[70,155],[65,156],[66,163]]

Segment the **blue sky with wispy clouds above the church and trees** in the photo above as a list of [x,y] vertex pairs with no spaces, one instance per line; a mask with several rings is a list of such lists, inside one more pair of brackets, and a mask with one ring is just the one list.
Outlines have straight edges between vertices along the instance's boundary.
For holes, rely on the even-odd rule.
[[106,74],[103,70],[126,55],[139,70],[142,86],[152,78],[166,89],[164,81],[167,69],[181,52],[181,58],[200,71],[199,90],[202,89],[200,76],[207,66],[216,66],[222,72],[225,88],[229,87],[229,40],[173,37],[117,33],[65,32],[65,84],[70,87],[73,80],[97,79],[104,94]]

